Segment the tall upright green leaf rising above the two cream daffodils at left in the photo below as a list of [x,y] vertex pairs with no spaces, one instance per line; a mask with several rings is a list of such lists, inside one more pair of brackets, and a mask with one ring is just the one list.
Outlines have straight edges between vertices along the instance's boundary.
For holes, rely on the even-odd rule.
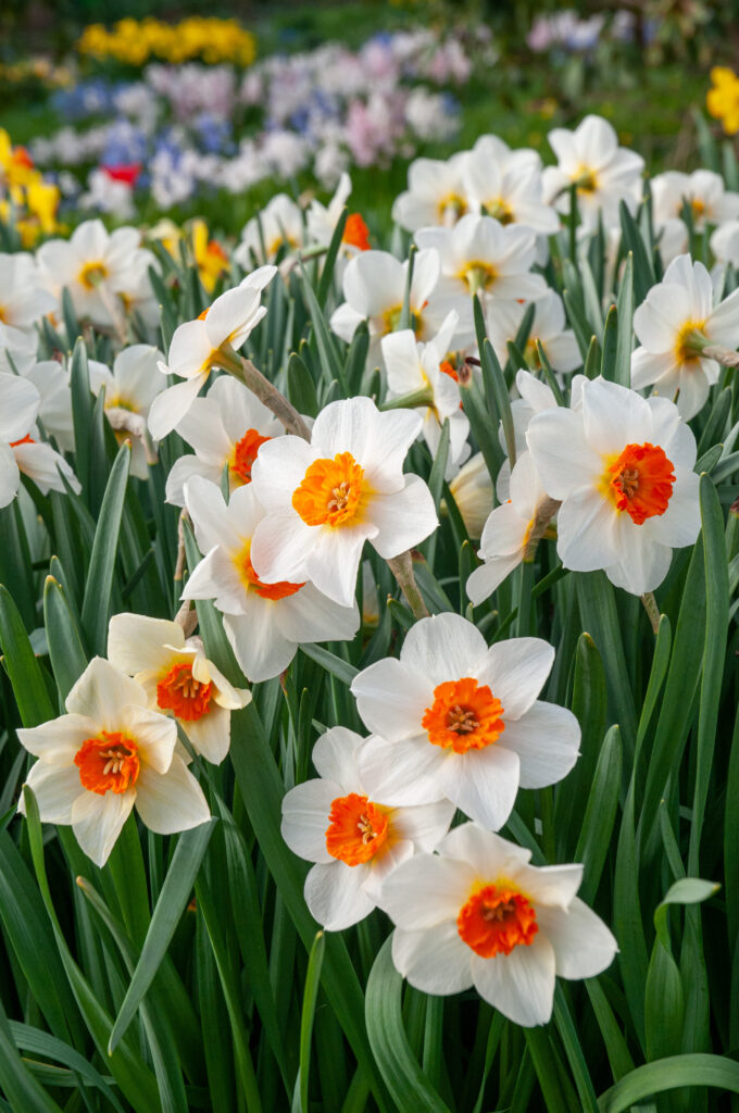
[[118,554],[118,535],[126,498],[131,446],[125,441],[110,471],[100,506],[90,569],[82,601],[82,629],[93,653],[105,656],[110,618],[110,595]]

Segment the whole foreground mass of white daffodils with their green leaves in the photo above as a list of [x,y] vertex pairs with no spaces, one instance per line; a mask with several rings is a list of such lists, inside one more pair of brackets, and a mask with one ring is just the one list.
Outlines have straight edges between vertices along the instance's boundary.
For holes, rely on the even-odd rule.
[[739,1094],[739,194],[549,141],[0,255],[3,1109]]

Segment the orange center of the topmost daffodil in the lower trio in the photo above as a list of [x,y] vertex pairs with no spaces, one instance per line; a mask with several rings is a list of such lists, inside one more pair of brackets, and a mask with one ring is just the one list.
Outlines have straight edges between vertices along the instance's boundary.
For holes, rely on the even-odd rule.
[[495,742],[505,723],[500,718],[503,705],[487,684],[477,684],[474,677],[446,680],[434,688],[434,702],[426,708],[421,726],[428,741],[455,754],[482,750]]

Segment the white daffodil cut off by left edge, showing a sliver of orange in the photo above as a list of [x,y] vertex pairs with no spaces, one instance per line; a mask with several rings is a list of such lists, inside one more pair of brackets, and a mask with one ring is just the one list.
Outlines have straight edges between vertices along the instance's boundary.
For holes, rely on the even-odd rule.
[[65,491],[61,475],[73,491],[81,490],[65,457],[38,440],[36,418],[40,405],[41,396],[31,382],[0,375],[0,508],[16,498],[21,472],[42,494]]

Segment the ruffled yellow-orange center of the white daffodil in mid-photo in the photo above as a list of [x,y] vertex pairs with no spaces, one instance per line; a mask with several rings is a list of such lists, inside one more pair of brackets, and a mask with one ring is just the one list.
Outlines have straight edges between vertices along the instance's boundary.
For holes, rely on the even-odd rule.
[[368,493],[364,470],[351,452],[339,452],[314,460],[293,493],[293,508],[306,525],[346,525],[361,516]]

